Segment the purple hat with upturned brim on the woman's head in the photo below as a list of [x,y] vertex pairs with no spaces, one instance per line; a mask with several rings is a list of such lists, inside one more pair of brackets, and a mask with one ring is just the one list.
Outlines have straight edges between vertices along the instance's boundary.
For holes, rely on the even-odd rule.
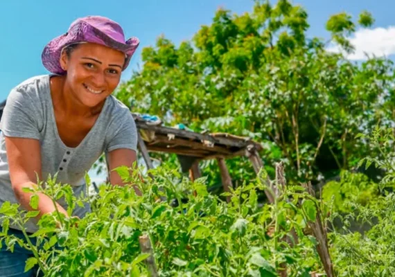
[[42,51],[42,64],[52,73],[60,75],[66,73],[60,66],[62,50],[65,46],[81,42],[102,44],[125,53],[123,70],[128,67],[130,58],[140,43],[137,37],[125,41],[121,26],[111,19],[100,16],[82,17],[70,25],[67,33],[55,37],[46,44]]

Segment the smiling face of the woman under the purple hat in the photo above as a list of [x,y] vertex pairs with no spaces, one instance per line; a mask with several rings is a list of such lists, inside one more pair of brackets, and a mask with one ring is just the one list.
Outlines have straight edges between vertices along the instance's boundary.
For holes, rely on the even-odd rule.
[[100,44],[79,44],[60,63],[67,71],[65,85],[82,105],[95,107],[109,96],[121,80],[125,54]]

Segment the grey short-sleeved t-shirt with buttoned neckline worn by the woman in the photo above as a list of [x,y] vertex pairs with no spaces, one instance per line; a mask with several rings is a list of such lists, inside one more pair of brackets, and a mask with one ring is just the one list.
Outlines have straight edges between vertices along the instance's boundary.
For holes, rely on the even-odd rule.
[[[137,150],[137,129],[128,107],[114,96],[105,105],[94,127],[76,148],[69,148],[60,139],[53,114],[49,78],[40,75],[30,78],[10,91],[0,122],[0,205],[18,203],[10,182],[4,135],[37,139],[41,145],[42,181],[58,173],[57,181],[70,184],[76,196],[85,192],[85,173],[105,153],[128,148]],[[64,208],[67,205],[60,201]],[[83,217],[89,206],[76,206],[73,215]],[[14,228],[17,228],[13,226]],[[30,220],[26,231],[37,231]]]

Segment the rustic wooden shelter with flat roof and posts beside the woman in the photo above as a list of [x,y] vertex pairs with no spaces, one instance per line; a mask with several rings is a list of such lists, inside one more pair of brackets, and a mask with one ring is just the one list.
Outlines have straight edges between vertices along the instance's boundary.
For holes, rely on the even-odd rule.
[[[258,155],[262,146],[249,138],[225,133],[196,133],[186,129],[166,127],[160,123],[150,123],[137,114],[133,116],[139,130],[139,151],[148,168],[153,167],[149,152],[174,153],[177,154],[182,171],[189,172],[189,177],[195,180],[202,176],[199,161],[216,159],[224,191],[229,191],[233,185],[225,163],[226,159],[248,157],[257,174],[263,166]],[[271,195],[267,196],[271,197]],[[228,202],[229,200],[230,197],[227,198]]]

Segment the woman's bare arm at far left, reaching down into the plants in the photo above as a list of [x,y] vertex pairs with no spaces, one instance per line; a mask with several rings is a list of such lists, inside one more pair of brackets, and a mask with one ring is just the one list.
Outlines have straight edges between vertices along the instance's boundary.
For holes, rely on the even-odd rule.
[[[25,193],[22,189],[37,186],[36,172],[42,180],[40,141],[9,136],[5,136],[5,140],[12,190],[21,206],[28,211],[33,211],[29,204],[33,193]],[[37,195],[39,196],[37,211],[40,211],[40,214],[36,219],[40,220],[42,215],[52,213],[56,209],[51,198],[42,193]],[[64,208],[59,204],[56,205],[58,211],[67,216]]]

